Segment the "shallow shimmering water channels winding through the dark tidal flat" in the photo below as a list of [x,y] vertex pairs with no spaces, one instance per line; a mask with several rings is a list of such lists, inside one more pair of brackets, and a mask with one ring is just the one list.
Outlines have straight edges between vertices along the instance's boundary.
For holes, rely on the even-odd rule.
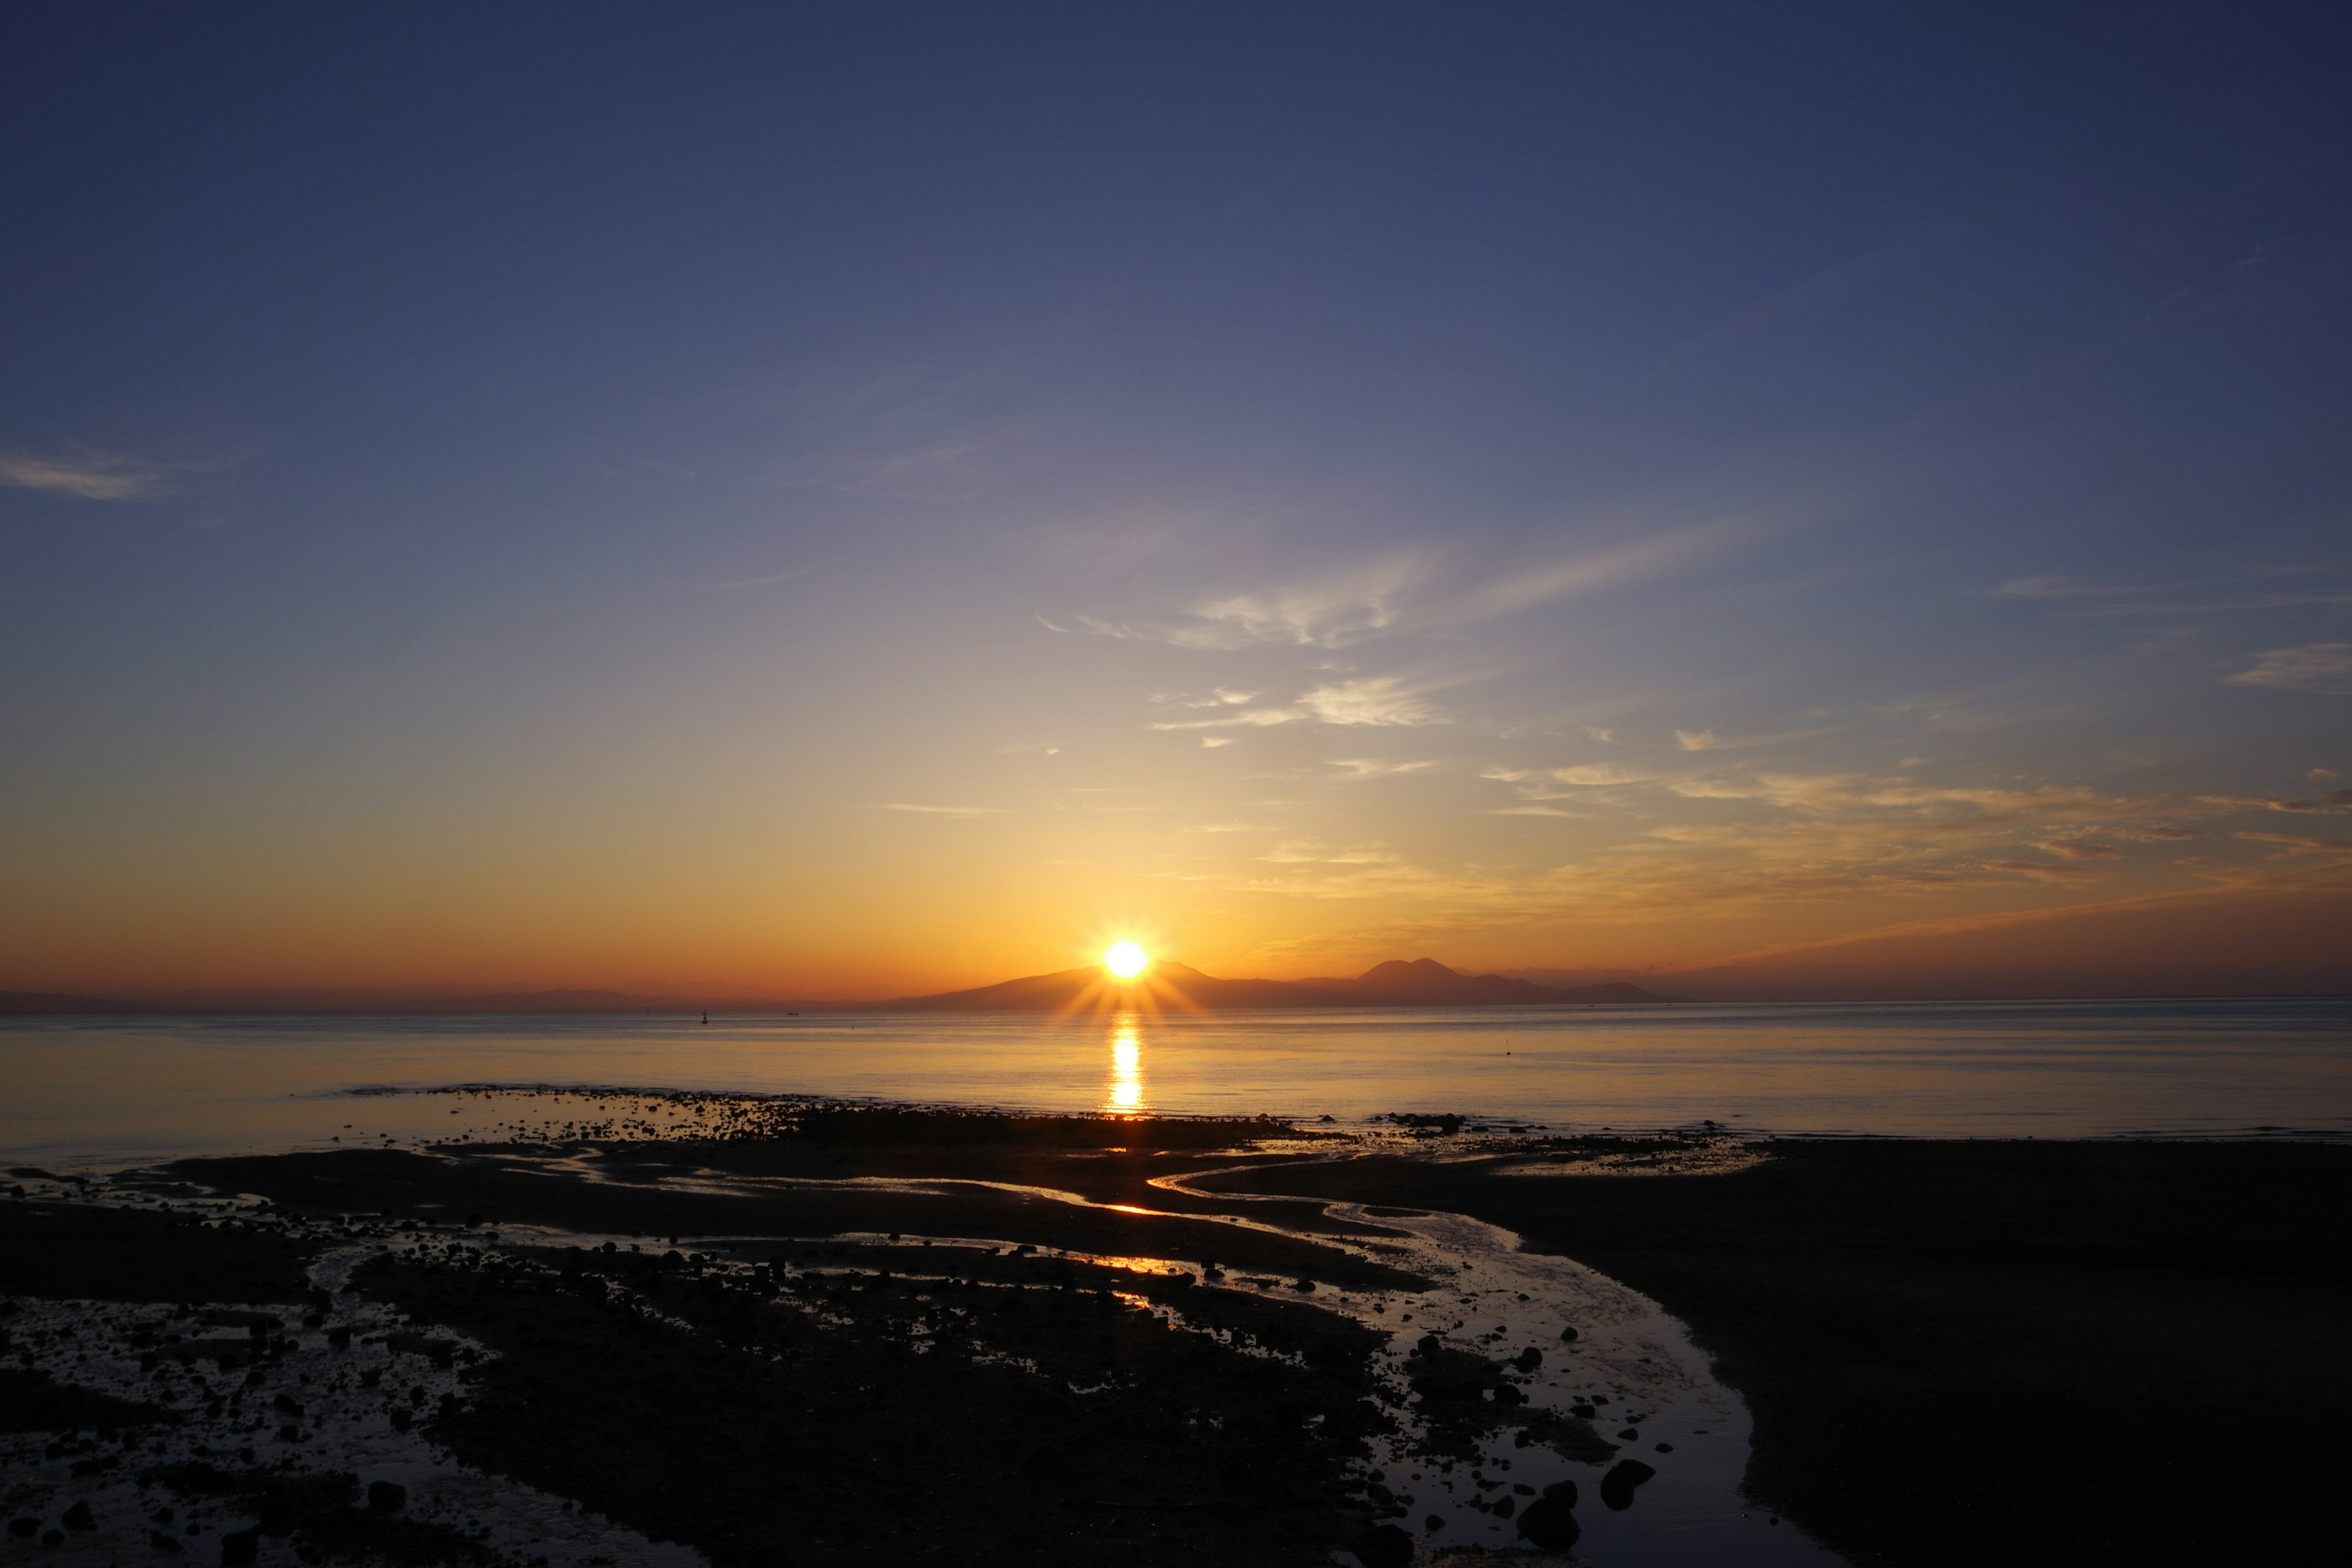
[[[1160,1178],[1157,1185],[1183,1190],[1216,1173]],[[722,1185],[746,1178],[684,1178]],[[1541,1178],[1538,1178],[1541,1180]],[[797,1185],[797,1182],[795,1182]],[[835,1182],[809,1182],[835,1185]],[[873,1185],[856,1182],[856,1185]],[[889,1182],[896,1185],[896,1182]],[[938,1187],[924,1180],[924,1187]],[[988,1182],[995,1185],[995,1182]],[[125,1192],[120,1199],[106,1185],[68,1187],[33,1182],[31,1201],[155,1201]],[[54,1187],[54,1190],[52,1190]],[[1040,1197],[1087,1204],[1068,1192],[1025,1187]],[[85,1197],[71,1197],[85,1194]],[[1240,1201],[1237,1194],[1214,1194]],[[1265,1199],[1298,1201],[1298,1199]],[[198,1206],[205,1208],[205,1206]],[[1740,1497],[1748,1465],[1750,1422],[1738,1394],[1715,1382],[1708,1359],[1682,1324],[1644,1295],[1557,1255],[1524,1253],[1517,1237],[1494,1225],[1454,1213],[1367,1208],[1329,1204],[1329,1215],[1383,1227],[1390,1239],[1369,1248],[1381,1262],[1442,1281],[1425,1293],[1343,1291],[1324,1286],[1310,1300],[1327,1312],[1355,1316],[1390,1335],[1383,1352],[1385,1371],[1406,1387],[1416,1347],[1423,1335],[1437,1335],[1446,1349],[1470,1352],[1508,1363],[1510,1389],[1524,1406],[1559,1415],[1590,1415],[1592,1427],[1618,1448],[1599,1462],[1576,1462],[1555,1448],[1515,1441],[1512,1429],[1482,1436],[1475,1458],[1456,1453],[1432,1460],[1414,1432],[1423,1406],[1406,1403],[1409,1429],[1381,1439],[1374,1455],[1374,1479],[1404,1507],[1399,1528],[1416,1540],[1421,1561],[1444,1561],[1484,1552],[1524,1554],[1522,1561],[1581,1561],[1595,1568],[1771,1568],[1778,1563],[1837,1563],[1839,1559],[1806,1540],[1795,1526],[1771,1519]],[[247,1225],[278,1225],[294,1234],[339,1234],[332,1225],[310,1225],[261,1213],[242,1213]],[[1237,1218],[1265,1232],[1294,1234],[1322,1246],[1350,1246],[1331,1234],[1305,1237],[1272,1222]],[[348,1232],[341,1232],[348,1234]],[[143,1427],[94,1443],[87,1434],[12,1434],[0,1436],[0,1472],[19,1497],[40,1495],[47,1512],[68,1507],[68,1497],[89,1505],[87,1528],[49,1528],[42,1537],[7,1535],[0,1561],[66,1559],[115,1563],[125,1556],[146,1561],[158,1552],[188,1561],[214,1561],[214,1537],[240,1523],[230,1505],[207,1507],[172,1502],[141,1488],[136,1476],[158,1465],[186,1460],[238,1460],[242,1465],[292,1462],[306,1469],[355,1472],[362,1483],[390,1481],[405,1488],[402,1519],[468,1535],[487,1552],[513,1563],[546,1568],[689,1568],[703,1561],[689,1547],[647,1540],[637,1530],[593,1516],[564,1497],[541,1493],[510,1479],[489,1476],[456,1462],[423,1436],[423,1420],[445,1399],[461,1399],[468,1366],[492,1352],[442,1326],[400,1321],[390,1307],[365,1305],[343,1293],[343,1284],[367,1258],[395,1253],[449,1253],[501,1246],[600,1246],[614,1237],[557,1232],[546,1227],[503,1225],[496,1232],[423,1227],[390,1232],[332,1246],[310,1269],[318,1291],[339,1307],[329,1314],[343,1333],[341,1347],[329,1347],[322,1319],[301,1319],[301,1309],[254,1305],[242,1312],[266,1321],[254,1333],[282,1340],[270,1356],[228,1354],[207,1378],[202,1354],[188,1345],[223,1347],[252,1326],[240,1328],[240,1309],[207,1309],[176,1321],[181,1345],[167,1352],[174,1361],[165,1385],[183,1415],[176,1427]],[[614,1239],[630,1246],[626,1237]],[[882,1237],[835,1237],[840,1244]],[[891,1237],[889,1241],[898,1241]],[[988,1237],[906,1237],[946,1246],[1002,1246]],[[903,1244],[894,1248],[906,1258]],[[969,1253],[967,1253],[969,1255]],[[1192,1265],[1155,1258],[1094,1258],[1061,1253],[1073,1260],[1101,1262],[1138,1272],[1176,1272]],[[802,1265],[821,1272],[826,1265]],[[833,1265],[840,1267],[840,1265]],[[1209,1279],[1202,1288],[1263,1291],[1289,1288],[1270,1279]],[[1145,1305],[1134,1298],[1136,1305]],[[1181,1314],[1181,1307],[1160,1307]],[[9,1319],[16,1361],[49,1373],[56,1382],[87,1387],[120,1399],[155,1399],[155,1331],[162,1307],[122,1302],[38,1302],[28,1300]],[[207,1326],[209,1319],[209,1326]],[[223,1326],[226,1324],[226,1326]],[[1562,1331],[1573,1328],[1573,1338]],[[212,1335],[209,1340],[202,1335]],[[148,1347],[146,1352],[141,1347]],[[1536,1356],[1526,1356],[1536,1352]],[[249,1371],[247,1371],[249,1368]],[[407,1410],[409,1415],[393,1415]],[[1604,1476],[1623,1460],[1639,1460],[1653,1474],[1642,1483],[1609,1486]],[[1538,1552],[1522,1533],[1519,1519],[1545,1488],[1573,1481],[1578,1493],[1576,1523],[1581,1537],[1571,1554]],[[165,1521],[158,1507],[176,1509]],[[16,1512],[24,1512],[21,1507]],[[40,1509],[35,1509],[40,1512]],[[45,1521],[54,1523],[54,1521]],[[47,1540],[61,1535],[59,1540]],[[172,1542],[169,1547],[160,1542]],[[261,1535],[252,1542],[261,1566],[292,1563],[287,1540]],[[242,1547],[240,1547],[242,1552]],[[223,1559],[226,1561],[226,1559]],[[1336,1554],[1350,1563],[1352,1554]]]

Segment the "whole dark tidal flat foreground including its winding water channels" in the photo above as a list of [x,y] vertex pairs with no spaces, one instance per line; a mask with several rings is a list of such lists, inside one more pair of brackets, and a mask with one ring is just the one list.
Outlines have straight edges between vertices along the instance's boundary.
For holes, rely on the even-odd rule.
[[0,1554],[2187,1563],[2328,1523],[2343,1147],[510,1100],[12,1173]]

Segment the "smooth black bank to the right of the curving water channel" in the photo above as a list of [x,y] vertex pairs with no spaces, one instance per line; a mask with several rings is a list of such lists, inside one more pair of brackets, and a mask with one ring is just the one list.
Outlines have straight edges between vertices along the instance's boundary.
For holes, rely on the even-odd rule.
[[1856,1563],[2340,1556],[2352,1147],[1780,1140],[1722,1175],[1524,1173],[1621,1143],[1216,1185],[1472,1213],[1649,1293],[1745,1394],[1750,1495]]

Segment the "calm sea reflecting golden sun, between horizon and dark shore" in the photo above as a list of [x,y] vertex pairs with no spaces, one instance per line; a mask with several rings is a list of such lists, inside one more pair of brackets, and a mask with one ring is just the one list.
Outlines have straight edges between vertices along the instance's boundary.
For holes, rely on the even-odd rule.
[[0,1154],[120,1166],[480,1133],[553,1084],[1023,1110],[1936,1138],[2352,1135],[2352,999],[1364,1013],[9,1018]]

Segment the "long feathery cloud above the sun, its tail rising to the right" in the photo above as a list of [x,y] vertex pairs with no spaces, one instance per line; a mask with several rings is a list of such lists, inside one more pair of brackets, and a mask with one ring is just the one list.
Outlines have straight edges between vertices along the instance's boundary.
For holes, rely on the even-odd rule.
[[1449,588],[1432,552],[1395,552],[1324,578],[1265,592],[1202,599],[1174,621],[1073,616],[1056,632],[1091,632],[1178,649],[1345,649],[1385,632],[1454,632],[1501,616],[1661,576],[1752,534],[1745,520],[1672,529],[1609,550]]

